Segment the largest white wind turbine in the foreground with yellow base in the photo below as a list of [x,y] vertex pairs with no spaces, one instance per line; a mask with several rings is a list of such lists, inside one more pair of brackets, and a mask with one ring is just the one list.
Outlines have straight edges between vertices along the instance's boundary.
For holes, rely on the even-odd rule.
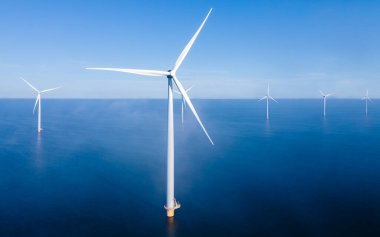
[[191,46],[198,37],[199,32],[202,30],[204,24],[207,21],[212,9],[208,12],[206,18],[203,20],[201,26],[195,32],[193,37],[190,39],[189,43],[183,49],[182,53],[179,55],[173,68],[168,71],[158,71],[158,70],[141,70],[141,69],[124,69],[124,68],[87,68],[93,70],[105,70],[105,71],[115,71],[115,72],[126,72],[138,75],[146,76],[164,76],[168,79],[168,146],[167,146],[167,192],[166,192],[166,214],[168,217],[174,216],[174,210],[180,207],[180,204],[174,198],[174,122],[173,122],[173,81],[177,86],[178,90],[181,92],[186,104],[189,106],[190,110],[193,112],[195,118],[197,119],[199,125],[203,129],[207,138],[210,140],[211,144],[214,145],[210,136],[208,135],[205,127],[203,126],[197,112],[194,109],[193,103],[191,102],[186,90],[184,89],[182,83],[178,80],[176,73],[178,68],[181,66],[186,55],[189,53]]

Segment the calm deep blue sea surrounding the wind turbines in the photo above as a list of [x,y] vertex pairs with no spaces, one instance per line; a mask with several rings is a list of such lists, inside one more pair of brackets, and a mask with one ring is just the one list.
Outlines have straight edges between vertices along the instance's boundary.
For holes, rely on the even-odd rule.
[[380,101],[0,100],[0,236],[380,236]]

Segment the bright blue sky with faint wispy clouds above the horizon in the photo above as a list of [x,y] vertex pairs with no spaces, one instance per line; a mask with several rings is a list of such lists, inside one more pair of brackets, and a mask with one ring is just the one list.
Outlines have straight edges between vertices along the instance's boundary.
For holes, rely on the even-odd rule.
[[165,78],[86,67],[170,69],[192,98],[380,97],[380,1],[18,1],[0,3],[0,98],[165,98]]

